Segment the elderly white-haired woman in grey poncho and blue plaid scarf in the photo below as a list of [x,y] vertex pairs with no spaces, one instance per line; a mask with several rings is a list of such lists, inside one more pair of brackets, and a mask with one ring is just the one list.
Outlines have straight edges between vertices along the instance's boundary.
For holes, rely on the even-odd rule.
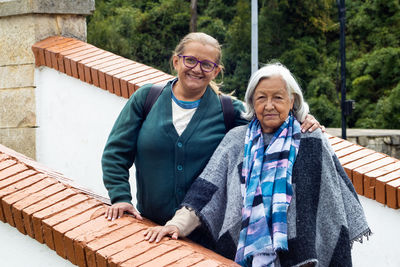
[[296,80],[267,65],[245,100],[251,122],[225,136],[182,208],[145,239],[199,226],[206,246],[243,266],[351,266],[352,242],[370,229],[326,137],[300,130],[308,105]]

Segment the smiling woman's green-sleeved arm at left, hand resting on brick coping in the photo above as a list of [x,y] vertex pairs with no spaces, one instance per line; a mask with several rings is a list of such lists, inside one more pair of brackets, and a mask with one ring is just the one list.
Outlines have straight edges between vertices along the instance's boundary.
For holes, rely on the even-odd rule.
[[125,211],[141,219],[131,204],[129,168],[135,160],[136,140],[149,88],[143,86],[131,96],[115,121],[104,148],[101,160],[103,182],[113,204],[105,214],[109,220],[119,218]]

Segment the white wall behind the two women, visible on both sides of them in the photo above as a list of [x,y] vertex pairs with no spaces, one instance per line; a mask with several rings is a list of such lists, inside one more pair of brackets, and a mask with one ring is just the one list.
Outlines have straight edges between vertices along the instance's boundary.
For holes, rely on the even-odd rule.
[[[101,154],[127,100],[47,67],[37,68],[35,75],[37,161],[107,196]],[[360,200],[374,234],[369,241],[354,244],[354,266],[400,266],[400,210],[362,196]]]

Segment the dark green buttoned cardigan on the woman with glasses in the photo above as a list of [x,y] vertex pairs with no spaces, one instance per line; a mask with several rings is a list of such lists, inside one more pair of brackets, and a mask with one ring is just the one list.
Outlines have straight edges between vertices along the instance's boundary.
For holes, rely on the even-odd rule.
[[[143,121],[143,106],[151,85],[134,93],[116,120],[103,157],[103,181],[111,203],[131,202],[129,168],[135,163],[137,208],[156,223],[173,217],[225,135],[222,107],[208,87],[187,128],[179,136],[172,124],[168,82]],[[247,124],[244,107],[233,100],[235,126]]]

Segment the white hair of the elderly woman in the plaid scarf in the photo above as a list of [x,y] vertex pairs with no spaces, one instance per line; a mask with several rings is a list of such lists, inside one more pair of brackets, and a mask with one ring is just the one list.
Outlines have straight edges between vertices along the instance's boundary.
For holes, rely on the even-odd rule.
[[281,63],[267,64],[258,71],[254,72],[250,77],[244,100],[246,102],[246,112],[243,117],[247,120],[253,119],[255,116],[253,95],[260,80],[273,76],[281,77],[286,84],[286,90],[290,99],[294,99],[293,115],[300,122],[303,122],[309,112],[308,104],[304,101],[303,93],[292,73]]

